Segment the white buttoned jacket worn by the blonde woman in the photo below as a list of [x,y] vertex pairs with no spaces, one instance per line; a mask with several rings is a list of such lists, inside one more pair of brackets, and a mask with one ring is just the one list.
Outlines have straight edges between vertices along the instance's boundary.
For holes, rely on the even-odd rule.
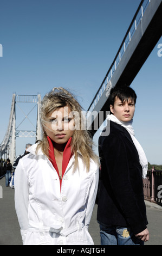
[[18,162],[15,170],[15,209],[23,245],[93,245],[88,233],[98,188],[99,169],[94,161],[86,172],[79,154],[62,178],[37,144]]

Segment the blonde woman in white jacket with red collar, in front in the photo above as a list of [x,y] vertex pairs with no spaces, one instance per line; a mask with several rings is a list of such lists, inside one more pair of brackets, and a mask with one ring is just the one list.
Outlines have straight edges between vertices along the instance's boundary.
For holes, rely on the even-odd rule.
[[63,88],[44,96],[43,139],[15,171],[15,208],[23,245],[93,245],[88,233],[99,163],[82,128],[82,108]]

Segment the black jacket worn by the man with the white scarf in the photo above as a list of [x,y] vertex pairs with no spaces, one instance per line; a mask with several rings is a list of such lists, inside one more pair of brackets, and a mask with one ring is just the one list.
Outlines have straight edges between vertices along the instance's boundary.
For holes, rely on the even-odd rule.
[[147,217],[142,168],[128,131],[110,121],[110,133],[99,138],[101,179],[98,194],[99,222],[130,227],[134,234],[146,229]]

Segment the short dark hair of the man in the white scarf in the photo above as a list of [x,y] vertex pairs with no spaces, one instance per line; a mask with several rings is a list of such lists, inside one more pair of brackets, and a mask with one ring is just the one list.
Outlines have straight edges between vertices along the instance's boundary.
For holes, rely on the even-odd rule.
[[115,97],[118,97],[122,102],[128,101],[131,99],[134,101],[134,104],[137,100],[137,95],[134,90],[129,86],[113,87],[109,94],[109,103],[114,106]]

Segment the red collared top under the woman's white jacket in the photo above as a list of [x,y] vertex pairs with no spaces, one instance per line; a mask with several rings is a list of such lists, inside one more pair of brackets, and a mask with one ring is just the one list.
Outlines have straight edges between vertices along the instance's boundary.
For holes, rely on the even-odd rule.
[[[57,163],[56,163],[56,160],[55,160],[55,155],[54,155],[54,146],[53,146],[53,141],[51,140],[50,137],[47,136],[47,139],[48,139],[48,143],[49,143],[49,157],[50,157],[50,161],[51,163],[53,164],[53,167],[56,169],[56,172],[59,176],[59,169],[57,167]],[[70,161],[70,158],[72,157],[72,150],[71,150],[71,141],[72,141],[72,137],[69,138],[67,144],[66,144],[66,147],[64,148],[64,151],[63,151],[63,159],[62,159],[62,177],[63,177],[63,174],[68,166],[68,163]],[[59,179],[60,179],[60,176],[59,176]],[[62,184],[62,179],[60,179],[60,189],[61,189],[61,184]]]

